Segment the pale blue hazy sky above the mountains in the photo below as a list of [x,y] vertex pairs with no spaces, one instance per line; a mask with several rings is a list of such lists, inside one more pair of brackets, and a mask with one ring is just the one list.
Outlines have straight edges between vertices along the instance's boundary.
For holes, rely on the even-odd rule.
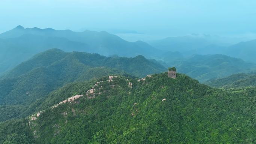
[[127,30],[152,39],[192,33],[256,38],[255,7],[256,0],[0,0],[0,33],[22,25]]

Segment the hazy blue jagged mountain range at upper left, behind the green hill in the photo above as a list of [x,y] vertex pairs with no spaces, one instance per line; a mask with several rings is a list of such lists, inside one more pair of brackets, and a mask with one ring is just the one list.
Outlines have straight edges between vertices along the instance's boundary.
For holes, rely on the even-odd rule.
[[[24,28],[22,26],[0,34],[0,46],[0,53],[4,53],[4,56],[0,55],[0,60],[4,60],[3,63],[0,63],[0,73],[27,60],[36,53],[52,48],[67,52],[81,51],[106,56],[116,54],[127,57],[137,55],[152,57],[158,53],[157,49],[145,42],[127,42],[104,31],[74,32],[51,28]],[[10,66],[7,67],[7,65]]]

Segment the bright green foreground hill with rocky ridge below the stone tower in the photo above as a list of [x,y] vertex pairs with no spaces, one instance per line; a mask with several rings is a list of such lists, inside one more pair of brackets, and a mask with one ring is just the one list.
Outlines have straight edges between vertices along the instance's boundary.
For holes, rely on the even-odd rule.
[[[74,95],[83,96],[52,107]],[[49,98],[40,113],[0,123],[0,143],[256,143],[255,88],[213,89],[162,73],[80,82]]]

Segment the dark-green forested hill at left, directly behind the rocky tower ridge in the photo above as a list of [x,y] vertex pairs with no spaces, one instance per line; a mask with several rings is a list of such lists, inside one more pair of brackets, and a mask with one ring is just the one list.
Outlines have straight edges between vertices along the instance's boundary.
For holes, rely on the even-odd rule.
[[[139,55],[106,57],[51,49],[22,62],[0,79],[0,121],[30,114],[51,91],[109,74],[144,77],[166,69]],[[33,105],[33,106],[32,106]]]

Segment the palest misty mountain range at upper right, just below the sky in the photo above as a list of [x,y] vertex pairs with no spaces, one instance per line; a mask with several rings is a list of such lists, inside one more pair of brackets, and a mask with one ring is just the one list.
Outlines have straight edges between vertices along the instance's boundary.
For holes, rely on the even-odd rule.
[[[225,40],[227,42],[225,43]],[[184,56],[192,54],[224,54],[245,61],[256,63],[256,40],[235,43],[228,38],[223,40],[213,39],[210,36],[183,36],[168,37],[162,40],[149,42],[155,48],[175,52],[178,51]]]

